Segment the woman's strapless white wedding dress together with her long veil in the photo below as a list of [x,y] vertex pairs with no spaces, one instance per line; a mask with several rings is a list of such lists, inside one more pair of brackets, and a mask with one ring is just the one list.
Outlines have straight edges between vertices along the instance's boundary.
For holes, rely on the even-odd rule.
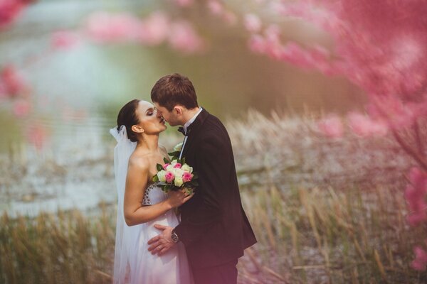
[[[117,187],[117,225],[114,260],[114,283],[124,284],[191,284],[193,283],[184,244],[178,243],[162,256],[148,251],[148,240],[161,233],[154,224],[176,226],[179,223],[173,210],[156,219],[135,226],[127,226],[123,215],[123,201],[127,164],[136,143],[127,138],[125,126],[110,129],[117,140],[114,150],[115,182]],[[151,206],[167,199],[157,183],[147,187],[142,205]]]

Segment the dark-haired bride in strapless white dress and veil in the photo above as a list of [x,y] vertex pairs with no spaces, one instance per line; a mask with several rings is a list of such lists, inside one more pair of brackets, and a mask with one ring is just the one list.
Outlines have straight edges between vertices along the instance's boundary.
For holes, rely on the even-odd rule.
[[147,241],[159,234],[154,224],[176,226],[173,208],[192,195],[165,194],[152,176],[164,164],[167,151],[159,146],[159,133],[167,128],[154,106],[134,99],[117,116],[110,133],[115,146],[115,181],[118,195],[114,283],[192,283],[184,245],[178,243],[162,256],[148,251]]

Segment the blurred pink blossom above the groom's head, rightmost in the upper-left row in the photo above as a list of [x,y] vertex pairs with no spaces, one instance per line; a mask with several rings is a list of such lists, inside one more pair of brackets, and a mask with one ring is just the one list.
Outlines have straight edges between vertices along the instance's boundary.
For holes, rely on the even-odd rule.
[[186,21],[172,23],[169,44],[182,53],[195,53],[202,50],[204,43],[194,28]]

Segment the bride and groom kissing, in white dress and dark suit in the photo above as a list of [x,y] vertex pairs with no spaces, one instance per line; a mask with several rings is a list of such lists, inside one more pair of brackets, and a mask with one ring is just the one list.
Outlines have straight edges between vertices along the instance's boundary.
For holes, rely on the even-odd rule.
[[[125,104],[117,128],[110,129],[117,140],[114,283],[237,283],[238,258],[256,239],[226,128],[199,107],[193,84],[182,75],[160,78],[151,99]],[[166,122],[181,126],[179,158],[199,177],[194,193],[165,193],[153,182],[157,164],[169,160],[159,145]]]

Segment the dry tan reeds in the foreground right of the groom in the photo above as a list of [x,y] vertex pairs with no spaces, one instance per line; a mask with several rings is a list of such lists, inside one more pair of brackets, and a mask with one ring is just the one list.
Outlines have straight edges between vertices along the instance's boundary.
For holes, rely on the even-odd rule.
[[295,191],[280,199],[275,185],[243,193],[258,244],[239,263],[241,283],[425,283],[427,273],[410,263],[426,230],[402,223],[401,192]]

